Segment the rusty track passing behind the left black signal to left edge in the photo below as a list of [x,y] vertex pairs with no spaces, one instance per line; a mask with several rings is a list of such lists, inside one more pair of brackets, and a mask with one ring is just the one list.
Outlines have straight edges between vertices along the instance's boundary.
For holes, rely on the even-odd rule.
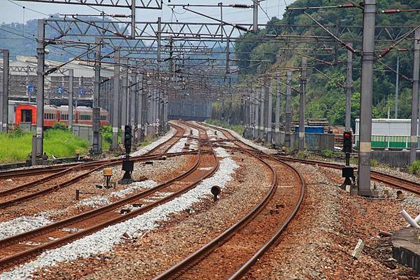
[[[140,155],[137,157],[132,157],[131,159],[135,162],[146,161],[146,160],[156,160],[161,158],[163,155],[166,156],[176,156],[176,155],[186,155],[187,153],[171,153],[166,154],[167,151],[179,141],[182,137],[185,130],[178,125],[173,125],[176,128],[176,134],[174,134],[168,141],[163,142],[162,144],[156,146],[151,151],[146,153],[146,155]],[[27,200],[33,200],[36,197],[46,195],[48,193],[54,192],[66,186],[70,186],[73,183],[80,181],[81,179],[86,178],[92,172],[103,169],[111,165],[117,165],[123,161],[123,158],[113,158],[110,160],[97,160],[94,162],[85,162],[78,163],[76,165],[71,165],[71,167],[60,166],[64,169],[55,169],[59,170],[55,174],[50,174],[41,179],[36,179],[28,183],[24,183],[20,186],[15,186],[6,190],[0,191],[0,209],[13,206],[15,204],[20,204]],[[36,174],[41,172],[41,170],[48,170],[50,167],[41,167],[36,169]],[[31,169],[26,169],[30,171]],[[81,172],[80,170],[83,170]],[[29,172],[30,173],[30,172]],[[8,173],[10,174],[10,173]],[[18,176],[18,175],[16,175]],[[3,197],[3,199],[2,199]]]

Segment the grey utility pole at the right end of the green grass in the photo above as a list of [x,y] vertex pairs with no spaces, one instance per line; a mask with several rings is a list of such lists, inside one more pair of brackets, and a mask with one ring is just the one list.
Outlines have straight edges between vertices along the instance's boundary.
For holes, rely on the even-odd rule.
[[100,129],[101,129],[101,109],[99,105],[99,96],[101,91],[101,38],[95,38],[97,44],[94,50],[94,88],[93,88],[93,111],[92,111],[92,130],[93,143],[92,152],[101,153]]

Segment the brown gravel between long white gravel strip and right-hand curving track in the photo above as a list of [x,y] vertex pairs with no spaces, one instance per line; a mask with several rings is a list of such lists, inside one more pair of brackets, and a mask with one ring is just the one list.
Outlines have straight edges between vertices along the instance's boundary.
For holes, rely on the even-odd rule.
[[228,183],[216,204],[209,195],[208,200],[188,213],[174,215],[165,228],[149,232],[141,240],[117,246],[111,253],[48,267],[36,278],[151,279],[235,223],[267,192],[265,167],[248,155],[235,153],[233,158],[240,165],[235,181]]

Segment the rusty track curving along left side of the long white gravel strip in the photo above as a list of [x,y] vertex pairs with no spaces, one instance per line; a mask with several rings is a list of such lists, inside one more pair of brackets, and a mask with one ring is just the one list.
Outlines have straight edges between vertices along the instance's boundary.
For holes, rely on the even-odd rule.
[[[178,197],[197,186],[200,181],[214,174],[219,165],[218,158],[209,144],[206,132],[202,129],[199,130],[199,132],[200,135],[198,140],[200,145],[198,147],[195,165],[188,169],[187,172],[166,181],[165,183],[160,183],[154,188],[130,195],[118,202],[106,205],[105,207],[87,211],[78,214],[77,216],[45,225],[42,228],[24,232],[20,235],[1,239],[1,269],[4,271],[4,269],[18,265],[24,260],[34,257],[46,249],[62,246],[69,241],[79,239],[85,235],[90,235],[92,232],[97,232],[109,225],[120,223],[139,214],[143,214],[160,204],[173,200],[175,197]],[[210,170],[209,167],[211,167]],[[170,193],[170,195],[150,202],[153,194],[162,190]],[[138,206],[141,204],[141,206],[127,214],[120,214],[116,211],[116,209],[129,203],[134,205],[137,204]],[[79,229],[78,232],[67,231],[66,227],[69,225],[71,225],[72,228]],[[34,246],[33,244],[40,245]]]

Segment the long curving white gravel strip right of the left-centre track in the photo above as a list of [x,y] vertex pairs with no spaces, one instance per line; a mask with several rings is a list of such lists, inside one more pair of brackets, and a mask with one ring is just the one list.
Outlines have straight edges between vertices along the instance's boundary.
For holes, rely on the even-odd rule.
[[209,197],[211,186],[217,185],[224,188],[232,180],[232,174],[237,167],[238,165],[232,158],[224,158],[220,162],[218,171],[210,178],[203,180],[193,190],[155,207],[145,214],[117,225],[111,225],[60,248],[45,251],[36,260],[20,265],[10,272],[3,272],[3,274],[0,274],[0,279],[30,279],[31,274],[36,269],[55,265],[57,262],[68,262],[77,258],[86,258],[92,254],[111,251],[113,246],[123,241],[125,232],[133,237],[139,237],[143,232],[157,228],[161,222],[168,221],[172,214],[184,211],[192,207],[194,203],[199,202],[200,199]]

